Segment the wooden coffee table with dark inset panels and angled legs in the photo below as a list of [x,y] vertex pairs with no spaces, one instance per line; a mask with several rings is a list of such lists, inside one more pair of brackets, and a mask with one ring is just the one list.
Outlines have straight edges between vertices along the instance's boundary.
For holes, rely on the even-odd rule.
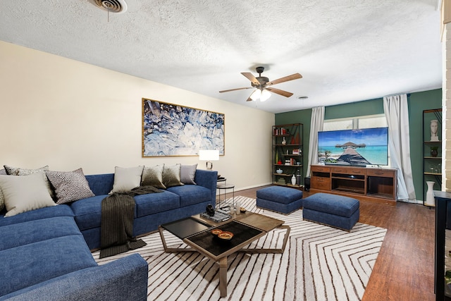
[[[284,221],[273,219],[256,213],[247,213],[234,216],[224,223],[214,223],[199,216],[191,216],[172,223],[165,223],[159,226],[161,242],[163,242],[164,252],[199,252],[214,262],[219,264],[219,291],[221,297],[227,296],[227,257],[235,252],[246,253],[278,253],[282,254],[290,235],[290,226],[283,225]],[[222,241],[211,234],[211,230],[220,228],[222,231],[232,232],[231,240]],[[280,249],[248,249],[243,248],[254,240],[258,240],[269,231],[276,228],[286,229],[283,245]],[[166,245],[163,230],[177,236],[189,248],[170,248]]]

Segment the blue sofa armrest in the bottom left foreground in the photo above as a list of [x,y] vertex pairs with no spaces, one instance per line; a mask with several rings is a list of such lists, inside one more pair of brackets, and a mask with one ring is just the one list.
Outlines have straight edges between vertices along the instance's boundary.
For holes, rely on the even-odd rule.
[[147,271],[140,254],[132,254],[23,288],[0,300],[147,300]]

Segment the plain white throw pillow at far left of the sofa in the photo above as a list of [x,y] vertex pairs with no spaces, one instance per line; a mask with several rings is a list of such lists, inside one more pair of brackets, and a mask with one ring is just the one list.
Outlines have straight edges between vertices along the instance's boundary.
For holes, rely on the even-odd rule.
[[56,206],[47,190],[43,173],[30,176],[0,175],[0,187],[5,197],[5,216],[13,216],[39,208]]

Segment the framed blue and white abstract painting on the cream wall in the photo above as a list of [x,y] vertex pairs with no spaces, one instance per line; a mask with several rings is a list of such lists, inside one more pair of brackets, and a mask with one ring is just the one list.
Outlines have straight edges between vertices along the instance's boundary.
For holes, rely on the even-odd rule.
[[226,115],[142,98],[142,157],[199,156],[199,149],[226,152]]

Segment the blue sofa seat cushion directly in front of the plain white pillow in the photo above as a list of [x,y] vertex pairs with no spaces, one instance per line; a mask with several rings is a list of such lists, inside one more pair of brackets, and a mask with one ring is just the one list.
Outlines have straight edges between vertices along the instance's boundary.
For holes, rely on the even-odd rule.
[[74,214],[68,205],[63,204],[27,211],[8,218],[4,218],[0,215],[0,226],[13,225],[14,223],[23,223],[25,221],[36,221],[39,219],[49,219],[55,216],[74,216]]

